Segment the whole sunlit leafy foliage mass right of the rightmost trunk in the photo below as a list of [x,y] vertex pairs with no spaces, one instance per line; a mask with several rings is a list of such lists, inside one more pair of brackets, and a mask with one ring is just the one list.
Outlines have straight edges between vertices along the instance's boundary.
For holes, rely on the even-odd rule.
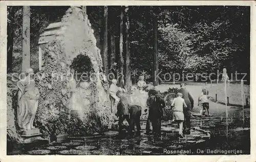
[[160,67],[178,72],[211,73],[223,68],[238,45],[230,38],[223,38],[229,21],[219,20],[195,23],[187,31],[176,24],[160,26]]

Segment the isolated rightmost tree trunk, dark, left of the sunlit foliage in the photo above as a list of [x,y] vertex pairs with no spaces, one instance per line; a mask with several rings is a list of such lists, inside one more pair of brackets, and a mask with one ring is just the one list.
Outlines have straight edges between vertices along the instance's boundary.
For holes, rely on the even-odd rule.
[[153,39],[154,39],[154,46],[153,46],[153,50],[154,50],[154,66],[153,66],[153,83],[154,86],[157,86],[158,83],[158,79],[156,78],[156,75],[158,74],[158,52],[157,52],[157,12],[154,12],[155,16],[153,17],[154,21],[153,21]]

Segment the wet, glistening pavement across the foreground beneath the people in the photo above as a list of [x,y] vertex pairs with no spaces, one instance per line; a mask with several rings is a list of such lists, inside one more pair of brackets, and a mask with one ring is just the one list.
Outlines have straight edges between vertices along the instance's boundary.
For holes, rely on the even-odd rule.
[[[246,118],[248,123],[249,119]],[[109,130],[102,136],[94,137],[70,137],[64,142],[53,142],[43,146],[24,147],[12,154],[65,154],[65,155],[160,155],[167,150],[189,150],[188,152],[176,152],[172,154],[198,154],[197,149],[202,148],[226,148],[231,141],[241,140],[241,144],[233,148],[241,148],[244,139],[248,140],[249,129],[243,128],[243,120],[239,118],[228,119],[228,138],[226,141],[226,122],[219,117],[195,117],[191,119],[194,128],[189,135],[179,138],[178,124],[172,120],[162,121],[161,136],[145,134],[146,121],[141,122],[141,136],[136,138],[117,138],[116,130]],[[236,130],[241,127],[241,130]],[[237,138],[240,139],[237,139]],[[217,139],[216,139],[217,138]],[[218,140],[215,142],[215,140]],[[247,143],[247,142],[245,142]],[[219,144],[219,145],[217,145]],[[230,148],[230,146],[228,146]],[[231,146],[232,148],[232,146]],[[244,147],[243,154],[250,148]]]

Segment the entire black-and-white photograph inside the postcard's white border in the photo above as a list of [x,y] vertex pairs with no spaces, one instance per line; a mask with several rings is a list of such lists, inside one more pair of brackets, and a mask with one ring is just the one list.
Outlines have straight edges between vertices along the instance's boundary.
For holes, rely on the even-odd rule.
[[7,155],[252,153],[251,6],[6,8]]

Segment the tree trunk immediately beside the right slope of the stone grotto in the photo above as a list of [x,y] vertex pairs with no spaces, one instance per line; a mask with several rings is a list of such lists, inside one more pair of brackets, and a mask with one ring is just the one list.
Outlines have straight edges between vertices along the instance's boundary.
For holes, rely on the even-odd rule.
[[108,6],[104,6],[104,21],[103,21],[103,46],[102,46],[102,62],[103,71],[108,75]]

